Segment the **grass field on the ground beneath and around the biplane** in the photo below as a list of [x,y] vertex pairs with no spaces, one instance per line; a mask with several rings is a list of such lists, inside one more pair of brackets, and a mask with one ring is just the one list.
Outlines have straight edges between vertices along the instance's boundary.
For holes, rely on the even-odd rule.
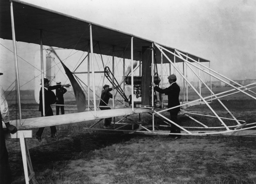
[[[256,122],[255,100],[238,94],[224,98],[223,103],[237,119]],[[221,116],[227,116],[216,100],[211,106]],[[10,106],[10,111],[15,108]],[[65,109],[66,114],[76,112],[74,107]],[[188,110],[210,113],[206,105]],[[22,118],[40,116],[37,104],[22,104],[22,112]],[[11,114],[12,118],[16,116]],[[178,118],[183,124],[189,123],[182,115]],[[216,123],[211,118],[199,118]],[[168,136],[84,132],[83,127],[92,123],[58,126],[57,138],[50,138],[50,129],[45,128],[41,143],[35,138],[27,139],[38,184],[256,183],[255,137],[183,136],[172,141]],[[25,183],[19,140],[8,139],[6,144],[12,183]]]

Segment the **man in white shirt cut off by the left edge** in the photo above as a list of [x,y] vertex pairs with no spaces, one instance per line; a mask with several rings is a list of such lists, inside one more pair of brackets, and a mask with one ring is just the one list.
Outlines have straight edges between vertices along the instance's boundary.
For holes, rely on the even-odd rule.
[[[0,73],[3,75],[3,73]],[[0,183],[1,184],[10,184],[12,182],[12,173],[9,165],[9,157],[6,149],[5,138],[4,138],[4,129],[2,121],[6,126],[6,129],[9,133],[14,134],[17,132],[17,128],[13,125],[10,125],[9,117],[9,108],[7,101],[4,96],[4,89],[0,85]]]

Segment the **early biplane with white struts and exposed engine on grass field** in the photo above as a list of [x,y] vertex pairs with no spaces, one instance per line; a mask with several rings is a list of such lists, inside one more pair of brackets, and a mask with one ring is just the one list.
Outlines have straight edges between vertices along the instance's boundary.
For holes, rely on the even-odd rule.
[[[12,0],[11,2],[1,0],[0,8],[0,38],[13,40],[15,84],[20,119],[13,120],[11,124],[18,127],[16,137],[20,138],[26,183],[29,183],[29,180],[34,176],[25,141],[26,137],[32,137],[30,129],[95,121],[93,125],[84,129],[104,131],[104,129],[95,128],[95,125],[104,118],[121,117],[118,120],[114,119],[114,129],[106,131],[169,135],[170,133],[162,131],[161,127],[168,128],[175,124],[182,130],[181,135],[256,135],[253,130],[256,128],[256,123],[247,124],[243,120],[238,120],[221,102],[222,97],[238,92],[255,100],[256,93],[252,89],[256,83],[240,85],[203,64],[210,61],[202,57],[20,0]],[[52,78],[52,74],[49,73],[51,66],[44,69],[47,65],[47,63],[45,64],[44,52],[47,52],[50,62],[51,58],[54,57],[55,61],[58,60],[61,63],[61,67],[64,68],[68,81],[70,81],[74,90],[77,103],[76,114],[63,114],[58,115],[58,117],[21,118],[17,41],[38,44],[41,54],[40,69],[37,70],[34,80],[37,84],[39,84],[38,80],[42,81],[42,87],[44,87],[44,77],[51,78],[53,82],[55,80],[54,77]],[[48,48],[44,49],[45,47]],[[67,62],[64,62],[59,56],[56,48],[73,49],[87,54],[82,61],[76,63],[76,67],[71,71]],[[96,58],[98,61],[96,61]],[[84,68],[80,69],[79,66],[81,65],[85,65],[84,68],[87,71],[84,71]],[[101,67],[96,69],[98,65],[101,65]],[[199,85],[204,85],[210,95],[203,96],[200,91],[201,87],[199,86],[198,90],[188,80],[188,71],[198,78]],[[166,116],[166,112],[171,108],[166,107],[164,96],[154,92],[151,86],[151,82],[155,82],[161,88],[168,87],[165,81],[168,81],[166,78],[171,73],[179,76],[184,91],[184,97],[181,98],[183,101],[180,104],[180,114],[193,120],[196,126],[181,126],[171,121],[168,115]],[[232,87],[232,89],[215,94],[212,91],[212,85],[209,87],[200,73],[215,78]],[[85,77],[81,79],[80,76]],[[96,83],[101,83],[100,86],[109,83],[113,89],[115,88],[111,109],[100,111],[100,94],[96,90],[96,87],[98,87]],[[188,100],[188,88],[194,91],[198,99]],[[229,115],[228,118],[221,117],[215,112],[210,103],[212,100],[217,100],[221,104]],[[186,110],[200,104],[204,104],[205,108],[211,111],[211,117],[216,118],[219,126],[211,126],[200,122],[192,116],[195,113]],[[133,115],[140,117],[141,114],[149,114],[150,121],[146,122],[141,119],[134,121],[130,118]],[[156,119],[161,119],[162,124],[156,124]],[[234,123],[227,125],[225,123],[227,119]],[[213,129],[216,130],[212,131]],[[30,176],[28,176],[27,162]]]

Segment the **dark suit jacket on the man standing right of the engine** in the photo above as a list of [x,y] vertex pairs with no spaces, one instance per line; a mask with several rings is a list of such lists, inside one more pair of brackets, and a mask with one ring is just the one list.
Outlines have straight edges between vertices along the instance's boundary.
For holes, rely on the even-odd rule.
[[[168,88],[161,89],[157,86],[154,88],[159,93],[164,93],[165,95],[168,95],[168,108],[179,106],[180,100],[180,86],[175,83],[172,83],[172,85]],[[176,107],[174,109],[168,110],[168,112],[172,111],[180,111],[180,107]]]

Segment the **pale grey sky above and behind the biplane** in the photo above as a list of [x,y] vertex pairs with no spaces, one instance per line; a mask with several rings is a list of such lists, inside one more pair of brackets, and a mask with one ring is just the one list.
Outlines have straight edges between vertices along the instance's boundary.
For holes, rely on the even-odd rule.
[[[24,0],[177,48],[211,61],[211,68],[233,80],[256,79],[255,0]],[[1,85],[12,82],[12,41],[0,39]],[[10,51],[11,50],[11,51]],[[40,46],[17,43],[20,83],[34,72]],[[64,57],[64,56],[63,56]],[[27,62],[24,62],[26,60]],[[24,63],[24,64],[20,64]],[[8,81],[8,84],[6,84]],[[24,89],[34,86],[24,85]]]

